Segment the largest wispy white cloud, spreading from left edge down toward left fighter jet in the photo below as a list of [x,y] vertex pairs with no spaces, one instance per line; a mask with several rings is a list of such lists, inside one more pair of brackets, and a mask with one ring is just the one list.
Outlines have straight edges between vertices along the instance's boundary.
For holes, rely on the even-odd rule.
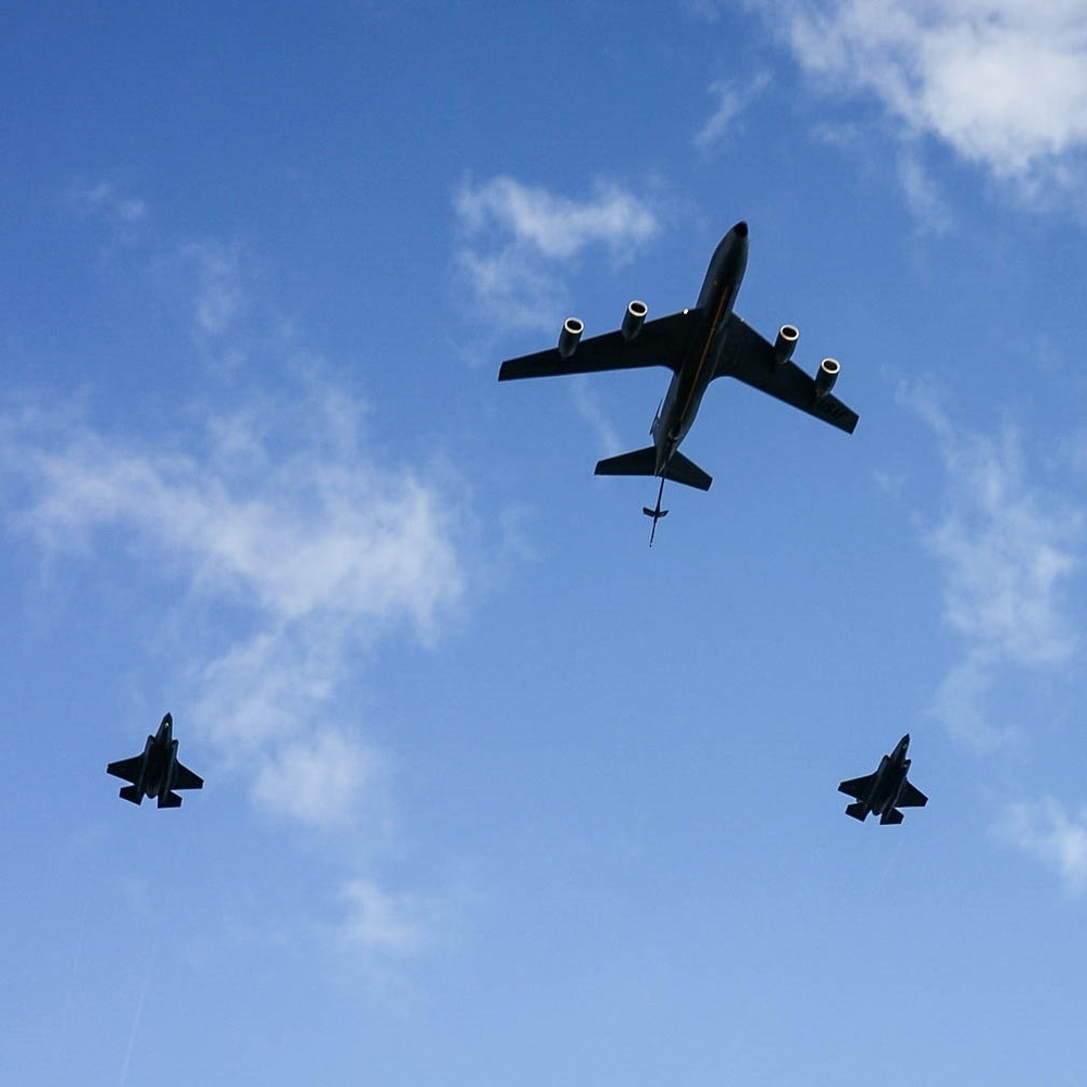
[[[262,805],[332,826],[364,800],[374,760],[345,730],[359,722],[333,727],[328,708],[378,637],[436,637],[465,586],[459,514],[437,484],[375,464],[359,405],[335,390],[260,414],[214,421],[187,454],[10,416],[0,478],[21,491],[5,502],[13,527],[47,551],[93,555],[122,528],[136,562],[183,582],[175,612],[213,632],[187,650],[192,727],[228,762],[263,765]],[[291,773],[298,788],[278,788]]]

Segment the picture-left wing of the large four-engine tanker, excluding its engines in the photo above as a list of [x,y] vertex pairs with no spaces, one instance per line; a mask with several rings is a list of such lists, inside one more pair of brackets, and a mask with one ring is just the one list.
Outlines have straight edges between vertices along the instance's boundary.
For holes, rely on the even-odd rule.
[[641,366],[677,370],[699,315],[699,310],[682,310],[666,317],[647,321],[630,340],[624,339],[619,330],[592,336],[582,340],[566,359],[559,354],[557,347],[524,354],[520,359],[507,359],[498,372],[498,379],[510,382],[518,377],[555,377],[602,370],[638,370]]

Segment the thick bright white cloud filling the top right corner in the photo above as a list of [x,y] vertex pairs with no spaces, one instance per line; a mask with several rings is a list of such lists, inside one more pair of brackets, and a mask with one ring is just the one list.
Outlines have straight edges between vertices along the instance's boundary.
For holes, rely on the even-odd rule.
[[1080,0],[754,0],[826,87],[873,93],[908,135],[1032,188],[1087,148]]

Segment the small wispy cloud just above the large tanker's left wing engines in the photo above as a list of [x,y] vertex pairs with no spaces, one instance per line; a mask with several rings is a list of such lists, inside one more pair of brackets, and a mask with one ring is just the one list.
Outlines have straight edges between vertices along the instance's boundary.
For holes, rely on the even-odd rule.
[[660,230],[648,203],[610,184],[579,201],[499,176],[465,182],[453,207],[458,264],[482,314],[502,328],[549,327],[565,297],[561,267],[587,247],[623,262]]

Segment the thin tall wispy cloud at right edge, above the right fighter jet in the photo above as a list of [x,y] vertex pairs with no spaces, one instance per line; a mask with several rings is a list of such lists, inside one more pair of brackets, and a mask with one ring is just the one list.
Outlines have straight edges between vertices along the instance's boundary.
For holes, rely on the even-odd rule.
[[1000,732],[989,696],[1001,671],[1065,665],[1078,648],[1066,594],[1082,565],[1084,517],[1032,478],[1011,427],[996,438],[969,434],[930,401],[913,407],[936,434],[947,474],[945,512],[924,541],[962,646],[935,709],[955,733],[988,742]]

